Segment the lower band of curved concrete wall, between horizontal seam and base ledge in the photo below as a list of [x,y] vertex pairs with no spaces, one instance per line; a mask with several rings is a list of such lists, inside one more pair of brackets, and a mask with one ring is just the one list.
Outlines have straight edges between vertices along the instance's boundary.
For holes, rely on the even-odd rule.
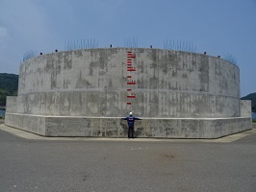
[[[127,106],[127,92],[42,92],[8,99],[7,111],[63,116],[229,117],[240,112],[240,100],[181,92],[136,92],[137,105]],[[236,108],[236,109],[235,109]],[[232,110],[234,109],[234,110]]]

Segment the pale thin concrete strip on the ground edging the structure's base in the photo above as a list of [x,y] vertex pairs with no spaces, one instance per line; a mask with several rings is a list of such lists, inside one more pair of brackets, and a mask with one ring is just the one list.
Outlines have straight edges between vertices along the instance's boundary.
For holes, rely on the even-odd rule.
[[[255,128],[255,125],[254,125]],[[32,140],[54,140],[54,141],[127,141],[127,142],[210,142],[210,143],[228,143],[239,140],[245,136],[256,133],[256,129],[245,132],[239,132],[224,136],[218,139],[163,139],[163,138],[106,138],[106,137],[44,137],[31,132],[24,132],[4,124],[0,124],[0,130],[12,133],[15,136]]]

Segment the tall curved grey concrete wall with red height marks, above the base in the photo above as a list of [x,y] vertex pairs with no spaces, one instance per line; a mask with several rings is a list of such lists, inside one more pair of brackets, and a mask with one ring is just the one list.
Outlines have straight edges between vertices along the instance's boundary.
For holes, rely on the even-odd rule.
[[239,68],[201,54],[141,48],[65,51],[20,65],[19,113],[114,117],[130,110],[141,117],[240,116]]

